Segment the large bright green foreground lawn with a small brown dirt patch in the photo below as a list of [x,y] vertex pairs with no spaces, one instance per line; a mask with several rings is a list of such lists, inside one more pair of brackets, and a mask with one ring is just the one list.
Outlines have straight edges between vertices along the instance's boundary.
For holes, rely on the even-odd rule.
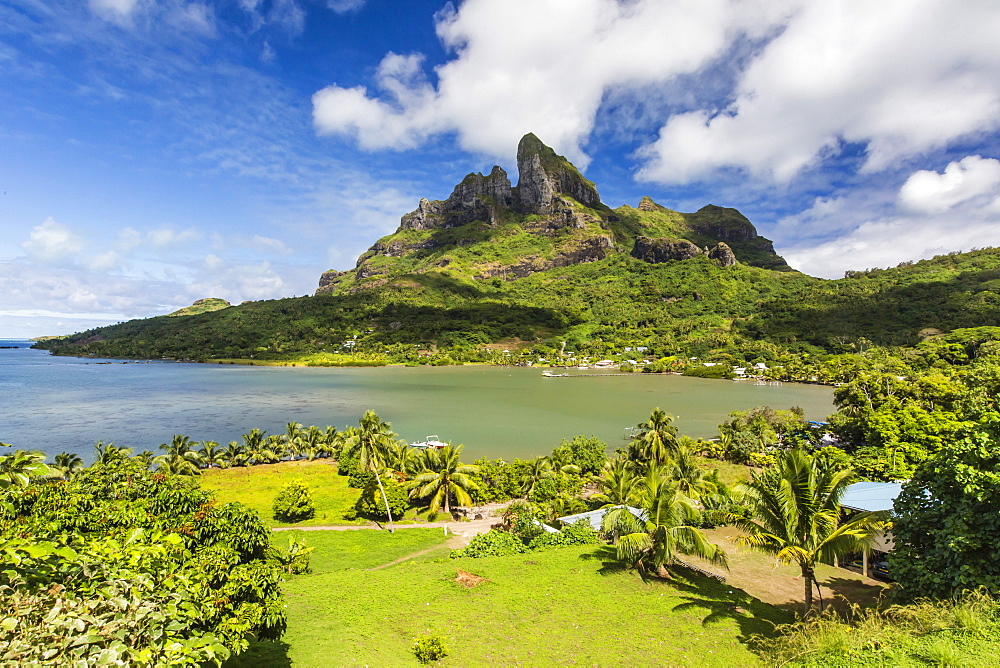
[[[336,533],[324,536],[324,550],[369,532]],[[382,555],[366,563],[390,556]],[[317,555],[317,572],[284,586],[282,641],[258,643],[230,665],[416,665],[414,638],[434,632],[446,639],[443,665],[745,666],[759,664],[751,636],[791,618],[710,578],[644,582],[608,557],[582,546],[361,571],[322,570],[338,562]],[[485,579],[466,588],[459,569]]]

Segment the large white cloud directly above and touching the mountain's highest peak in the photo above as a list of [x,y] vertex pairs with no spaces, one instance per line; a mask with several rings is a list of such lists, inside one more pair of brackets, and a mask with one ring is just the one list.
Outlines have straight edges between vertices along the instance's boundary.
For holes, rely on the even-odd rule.
[[736,30],[759,36],[782,14],[737,0],[467,0],[437,17],[455,56],[435,70],[389,53],[376,93],[331,85],[313,96],[320,134],[406,149],[457,132],[468,150],[509,156],[534,132],[586,162],[583,146],[612,86],[665,82],[718,57]]

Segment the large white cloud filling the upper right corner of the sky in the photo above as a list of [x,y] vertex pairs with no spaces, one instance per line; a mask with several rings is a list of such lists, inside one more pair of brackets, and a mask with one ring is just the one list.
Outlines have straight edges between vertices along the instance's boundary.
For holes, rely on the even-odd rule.
[[787,181],[867,148],[866,171],[991,131],[1000,119],[1000,5],[989,0],[798,2],[742,73],[735,100],[670,118],[640,178],[725,167]]

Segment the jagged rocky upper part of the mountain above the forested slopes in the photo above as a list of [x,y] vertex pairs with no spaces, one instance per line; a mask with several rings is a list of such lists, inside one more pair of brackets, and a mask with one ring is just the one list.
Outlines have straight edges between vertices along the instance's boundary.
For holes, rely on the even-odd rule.
[[393,234],[350,271],[328,271],[317,294],[354,292],[406,276],[503,278],[630,254],[644,262],[707,256],[788,270],[771,242],[736,209],[708,205],[680,213],[642,198],[610,209],[596,186],[533,134],[517,147],[518,183],[494,166],[472,173],[445,200],[421,199]]

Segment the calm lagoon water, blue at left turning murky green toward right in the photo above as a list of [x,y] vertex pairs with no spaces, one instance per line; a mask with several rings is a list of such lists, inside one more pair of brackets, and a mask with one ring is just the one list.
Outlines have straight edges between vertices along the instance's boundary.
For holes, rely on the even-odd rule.
[[[464,443],[469,459],[531,457],[562,438],[594,434],[612,446],[660,407],[682,433],[711,436],[734,410],[801,406],[833,412],[829,387],[621,374],[544,378],[499,367],[359,369],[247,367],[169,362],[99,363],[53,357],[0,340],[0,442],[88,461],[98,440],[155,450],[173,434],[226,443],[253,427],[287,422],[357,424],[374,409],[403,438]],[[587,372],[576,372],[587,373]]]

